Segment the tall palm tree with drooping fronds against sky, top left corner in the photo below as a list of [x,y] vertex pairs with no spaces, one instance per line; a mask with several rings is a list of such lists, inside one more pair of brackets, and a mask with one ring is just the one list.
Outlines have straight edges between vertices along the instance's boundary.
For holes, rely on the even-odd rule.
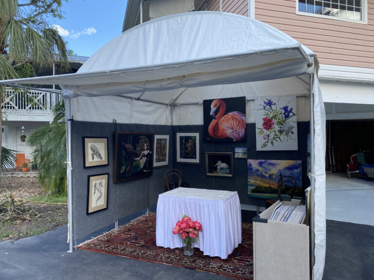
[[[47,22],[48,17],[62,18],[61,5],[62,0],[0,0],[0,80],[18,78],[14,68],[27,63],[46,70],[57,61],[69,69],[66,42]],[[0,116],[2,93],[0,85]],[[1,137],[0,130],[0,146]]]

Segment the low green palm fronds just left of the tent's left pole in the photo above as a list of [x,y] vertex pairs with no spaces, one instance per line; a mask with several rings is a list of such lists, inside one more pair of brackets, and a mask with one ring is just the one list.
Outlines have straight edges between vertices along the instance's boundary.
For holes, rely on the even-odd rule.
[[39,167],[39,182],[48,194],[67,194],[65,105],[54,107],[52,123],[34,130],[26,140]]

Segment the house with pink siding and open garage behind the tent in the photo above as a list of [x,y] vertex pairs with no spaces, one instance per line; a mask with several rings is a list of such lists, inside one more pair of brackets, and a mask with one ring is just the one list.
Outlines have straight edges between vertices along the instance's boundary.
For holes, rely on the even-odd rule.
[[317,54],[327,171],[345,172],[357,152],[374,162],[374,0],[128,0],[123,31],[203,10],[255,18]]

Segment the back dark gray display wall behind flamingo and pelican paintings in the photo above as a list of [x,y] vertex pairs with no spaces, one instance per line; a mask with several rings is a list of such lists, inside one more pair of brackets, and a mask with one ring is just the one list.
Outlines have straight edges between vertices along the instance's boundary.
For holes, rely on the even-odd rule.
[[[180,125],[174,126],[174,137],[177,132],[199,131],[201,147],[201,164],[182,164],[176,161],[176,146],[173,148],[174,168],[179,169],[184,181],[190,188],[214,189],[237,191],[241,204],[256,205],[264,207],[266,199],[248,197],[247,186],[247,160],[233,156],[233,177],[218,177],[206,175],[206,152],[235,153],[235,147],[247,147],[249,159],[276,159],[276,160],[302,160],[302,184],[303,188],[310,185],[307,176],[307,135],[309,133],[309,122],[298,122],[298,147],[296,151],[256,151],[256,125],[247,123],[246,142],[204,142],[203,125]],[[174,140],[175,142],[175,140]]]

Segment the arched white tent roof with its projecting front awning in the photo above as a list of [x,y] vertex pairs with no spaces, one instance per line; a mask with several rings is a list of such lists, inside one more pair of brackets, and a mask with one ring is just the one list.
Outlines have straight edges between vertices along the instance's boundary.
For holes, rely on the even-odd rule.
[[118,35],[74,74],[6,82],[59,84],[66,97],[123,95],[313,73],[311,56],[295,39],[261,21],[191,12]]

